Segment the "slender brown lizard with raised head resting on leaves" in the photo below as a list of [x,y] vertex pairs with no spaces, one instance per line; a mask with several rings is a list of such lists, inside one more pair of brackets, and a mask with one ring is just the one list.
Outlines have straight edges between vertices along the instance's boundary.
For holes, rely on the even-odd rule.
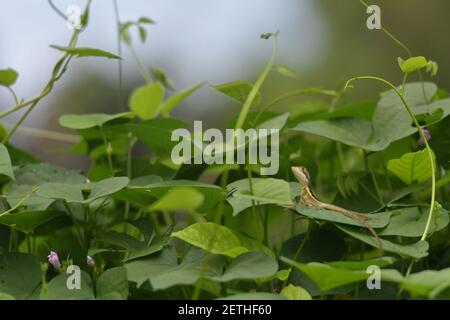
[[298,202],[306,206],[312,206],[317,208],[322,208],[326,210],[331,210],[335,212],[342,213],[344,216],[356,221],[361,226],[367,228],[370,233],[378,242],[381,255],[383,254],[383,244],[380,237],[377,235],[373,227],[369,224],[369,215],[364,213],[359,213],[351,210],[344,209],[342,207],[336,206],[334,204],[329,204],[317,199],[316,195],[311,189],[309,172],[305,167],[291,167],[292,173],[295,178],[300,183],[300,196]]

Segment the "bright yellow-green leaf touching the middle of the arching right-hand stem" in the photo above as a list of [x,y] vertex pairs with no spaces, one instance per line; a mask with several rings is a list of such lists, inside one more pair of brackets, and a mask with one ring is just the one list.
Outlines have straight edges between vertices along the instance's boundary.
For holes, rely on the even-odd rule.
[[[434,153],[433,161],[435,161]],[[390,160],[388,170],[406,184],[412,184],[415,181],[423,183],[433,174],[427,149],[406,153],[400,159]]]

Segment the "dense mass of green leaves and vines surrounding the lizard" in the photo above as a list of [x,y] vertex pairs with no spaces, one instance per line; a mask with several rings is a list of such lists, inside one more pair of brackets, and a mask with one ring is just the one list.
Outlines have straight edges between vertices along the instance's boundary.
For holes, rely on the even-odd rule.
[[[134,52],[133,27],[145,42],[152,24],[122,23],[122,43]],[[80,32],[67,47],[53,46],[63,56],[42,93],[16,99],[1,117],[22,109],[28,116],[72,58],[121,59],[77,47]],[[241,106],[228,127],[280,129],[276,176],[259,176],[255,165],[172,163],[171,133],[189,125],[171,112],[204,84],[174,92],[163,71],[150,73],[136,55],[145,83],[128,111],[59,119],[79,136],[69,152],[91,159],[86,172],[11,145],[24,118],[2,128],[0,299],[450,298],[450,99],[432,82],[407,82],[412,73],[435,74],[437,64],[399,59],[399,87],[359,77],[338,90],[300,89],[266,103],[260,88],[271,72],[296,76],[274,65],[277,37],[260,40],[273,41],[274,51],[254,84],[210,87]],[[17,78],[0,70],[0,86],[12,90]],[[343,103],[351,84],[371,84],[356,80],[383,82],[387,91]],[[299,95],[316,103],[293,103]],[[138,144],[149,154],[135,155]],[[296,205],[291,166],[308,168],[324,201],[370,213],[384,255],[353,220]],[[61,266],[47,262],[50,251]],[[80,290],[66,286],[72,264],[82,269]],[[367,288],[368,266],[381,268],[381,290]]]

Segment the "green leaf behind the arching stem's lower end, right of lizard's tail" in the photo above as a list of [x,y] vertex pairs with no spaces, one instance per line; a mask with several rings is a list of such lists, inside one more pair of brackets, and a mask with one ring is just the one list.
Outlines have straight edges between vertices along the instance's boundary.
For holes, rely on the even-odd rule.
[[[393,210],[391,221],[379,235],[421,237],[427,224],[429,209],[421,213],[417,207]],[[430,225],[429,233],[444,229],[449,224],[448,212],[444,209],[435,211],[434,219]]]

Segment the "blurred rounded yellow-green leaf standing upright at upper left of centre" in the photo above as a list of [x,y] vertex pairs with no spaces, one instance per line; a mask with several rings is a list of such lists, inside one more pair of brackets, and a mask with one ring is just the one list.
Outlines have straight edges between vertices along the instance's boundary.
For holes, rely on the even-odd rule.
[[143,120],[155,118],[161,111],[164,99],[164,87],[161,83],[151,83],[133,91],[130,97],[130,109]]

